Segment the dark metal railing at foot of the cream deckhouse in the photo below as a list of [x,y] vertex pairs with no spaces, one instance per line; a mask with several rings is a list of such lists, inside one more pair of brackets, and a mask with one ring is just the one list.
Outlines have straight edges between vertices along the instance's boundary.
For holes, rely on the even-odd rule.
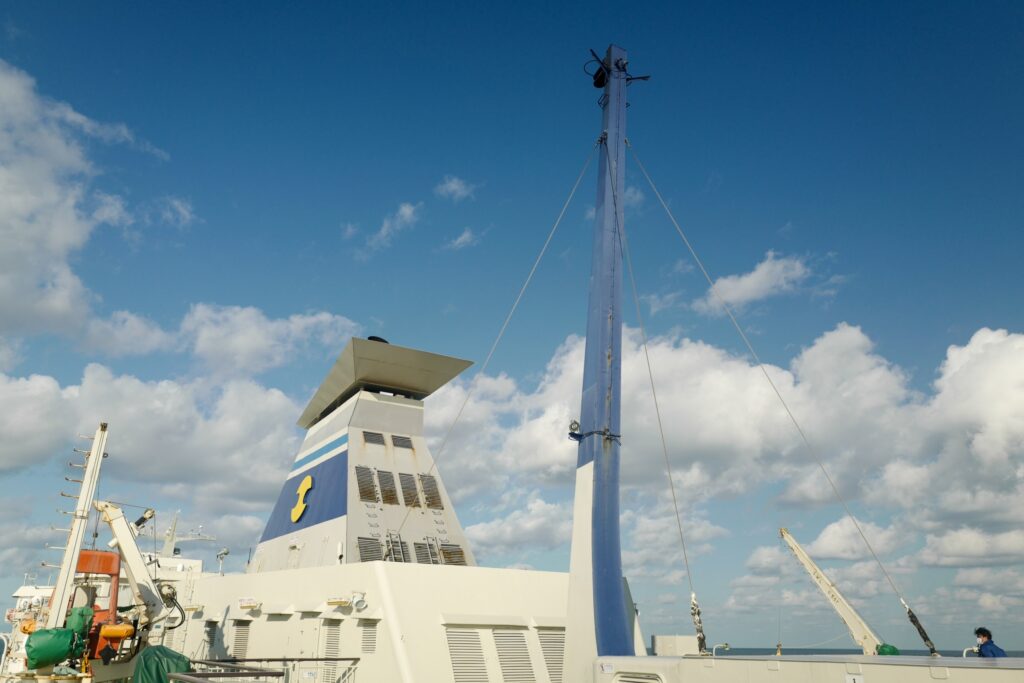
[[[276,678],[282,679],[280,683],[354,683],[358,663],[358,657],[258,657],[195,659],[193,666],[206,682],[225,678],[237,683],[249,674],[254,681]],[[196,672],[184,675],[195,676]]]

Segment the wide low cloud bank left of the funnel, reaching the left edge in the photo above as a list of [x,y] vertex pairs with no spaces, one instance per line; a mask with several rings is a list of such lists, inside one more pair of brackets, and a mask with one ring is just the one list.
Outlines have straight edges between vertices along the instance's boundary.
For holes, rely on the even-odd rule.
[[299,444],[300,407],[248,380],[146,382],[99,365],[65,387],[0,375],[0,471],[70,453],[109,422],[108,496],[144,500],[148,486],[199,511],[265,513]]

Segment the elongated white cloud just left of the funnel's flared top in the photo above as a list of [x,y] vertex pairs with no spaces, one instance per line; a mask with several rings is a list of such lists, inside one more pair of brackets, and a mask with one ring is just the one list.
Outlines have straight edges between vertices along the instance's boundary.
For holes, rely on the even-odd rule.
[[257,374],[282,366],[311,343],[337,349],[359,326],[327,312],[268,318],[252,306],[196,304],[181,322],[181,337],[215,374]]

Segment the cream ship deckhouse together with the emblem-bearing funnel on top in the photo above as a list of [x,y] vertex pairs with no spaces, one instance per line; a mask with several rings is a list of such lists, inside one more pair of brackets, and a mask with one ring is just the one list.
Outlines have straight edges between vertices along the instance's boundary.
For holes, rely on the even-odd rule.
[[423,399],[469,365],[352,339],[247,572],[186,582],[163,644],[321,683],[560,683],[567,574],[477,566],[423,435]]

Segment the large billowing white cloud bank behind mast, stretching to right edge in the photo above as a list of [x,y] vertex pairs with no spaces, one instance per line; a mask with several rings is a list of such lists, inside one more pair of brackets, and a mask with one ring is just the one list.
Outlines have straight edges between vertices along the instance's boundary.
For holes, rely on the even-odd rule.
[[[928,552],[933,556],[926,553],[925,560],[937,563],[935,551],[945,540],[943,530],[971,520],[987,525],[990,533],[1005,533],[1024,519],[1024,446],[1020,445],[1024,432],[1019,426],[1024,411],[1024,354],[1018,350],[1022,339],[1022,335],[979,331],[965,346],[950,348],[950,360],[943,364],[934,391],[928,394],[912,390],[907,374],[879,355],[860,329],[848,325],[823,334],[788,368],[766,370],[845,498],[870,506],[873,519],[864,521],[864,530],[877,551],[886,556],[913,549],[931,533],[935,539]],[[623,458],[630,466],[623,470],[624,524],[633,514],[630,511],[637,509],[631,492],[642,490],[649,497],[666,486],[639,341],[635,330],[625,331]],[[778,482],[781,499],[798,510],[835,503],[777,398],[749,359],[678,334],[651,339],[649,350],[677,492],[689,506],[684,511],[688,524],[701,518],[703,502],[742,495],[768,482]],[[560,496],[567,495],[575,444],[565,434],[569,421],[579,416],[583,353],[583,340],[570,337],[536,384],[521,386],[504,376],[480,381],[439,460],[457,501],[481,496],[494,500],[499,493],[539,483],[562,492],[546,493],[549,503],[557,504]],[[459,381],[428,399],[426,428],[435,452],[466,387]],[[990,462],[1004,465],[989,472],[985,463]],[[965,478],[966,471],[972,475]],[[949,481],[958,483],[944,485]],[[912,514],[904,515],[911,509]],[[890,515],[898,518],[877,521]],[[647,516],[660,523],[672,520],[664,511],[647,510]],[[671,524],[663,531],[658,538],[672,542]],[[632,530],[626,535],[633,536]],[[982,550],[995,552],[997,562],[1009,561],[1016,557],[1015,539],[994,538]],[[821,559],[866,557],[848,519],[828,525],[808,547]],[[784,557],[777,550],[765,552],[772,554],[769,564]],[[946,555],[954,556],[949,565],[979,562],[963,551],[957,555],[943,549],[942,556]],[[642,568],[642,560],[634,565]],[[784,560],[796,566],[792,558]],[[901,570],[887,561],[891,571]],[[650,570],[655,569],[660,570]],[[868,570],[873,571],[866,565],[840,567],[837,581],[852,587],[861,581],[858,572]],[[751,575],[758,573],[752,570]],[[863,579],[851,588],[852,594],[885,590],[878,583],[882,579]]]

